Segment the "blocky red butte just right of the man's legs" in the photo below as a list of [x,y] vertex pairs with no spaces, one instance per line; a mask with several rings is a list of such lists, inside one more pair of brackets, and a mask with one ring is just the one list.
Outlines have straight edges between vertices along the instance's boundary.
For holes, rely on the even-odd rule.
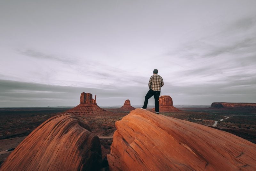
[[[176,107],[174,107],[172,102],[172,97],[170,96],[160,96],[159,97],[159,112],[171,112],[178,111]],[[155,108],[152,109],[155,111]]]

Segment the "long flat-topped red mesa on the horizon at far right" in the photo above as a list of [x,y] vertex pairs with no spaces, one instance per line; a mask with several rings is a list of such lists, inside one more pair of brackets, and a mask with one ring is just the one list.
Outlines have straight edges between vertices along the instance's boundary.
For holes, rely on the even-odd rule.
[[226,108],[226,109],[256,109],[256,103],[225,103],[225,102],[214,102],[211,107]]

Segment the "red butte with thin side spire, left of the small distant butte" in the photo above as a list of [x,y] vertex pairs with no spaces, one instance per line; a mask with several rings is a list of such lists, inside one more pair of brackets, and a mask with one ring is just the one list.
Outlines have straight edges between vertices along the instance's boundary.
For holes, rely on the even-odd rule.
[[81,93],[80,104],[76,107],[66,110],[67,113],[72,113],[74,115],[83,115],[83,114],[93,114],[93,115],[105,115],[109,112],[105,109],[100,108],[96,103],[96,95],[94,99],[92,98],[91,93]]

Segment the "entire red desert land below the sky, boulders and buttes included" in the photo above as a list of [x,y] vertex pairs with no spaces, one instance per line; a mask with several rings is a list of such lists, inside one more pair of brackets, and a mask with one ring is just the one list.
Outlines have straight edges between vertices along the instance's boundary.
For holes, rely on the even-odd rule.
[[103,109],[82,93],[74,108],[1,108],[0,170],[256,169],[256,103],[159,104]]

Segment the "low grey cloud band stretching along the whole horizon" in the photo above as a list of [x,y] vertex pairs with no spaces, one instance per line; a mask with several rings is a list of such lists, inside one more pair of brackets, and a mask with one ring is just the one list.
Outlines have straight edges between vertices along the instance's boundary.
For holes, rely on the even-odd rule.
[[[247,100],[255,102],[252,95],[256,94],[256,78],[236,80],[218,84],[196,84],[190,86],[173,86],[168,82],[162,88],[161,95],[171,95],[174,104],[208,104],[221,101],[234,101],[234,95],[240,99],[247,96]],[[123,101],[130,99],[133,105],[141,105],[148,91],[145,86],[124,86],[119,89],[95,89],[86,87],[54,86],[30,82],[16,82],[0,80],[0,107],[17,106],[75,106],[79,104],[81,92],[89,92],[97,96],[98,105],[122,105]],[[247,86],[248,85],[248,86]],[[250,97],[250,98],[249,98]],[[188,99],[192,99],[188,101]],[[219,100],[218,100],[219,99]],[[237,99],[239,100],[239,99]],[[149,101],[153,105],[153,100]]]

